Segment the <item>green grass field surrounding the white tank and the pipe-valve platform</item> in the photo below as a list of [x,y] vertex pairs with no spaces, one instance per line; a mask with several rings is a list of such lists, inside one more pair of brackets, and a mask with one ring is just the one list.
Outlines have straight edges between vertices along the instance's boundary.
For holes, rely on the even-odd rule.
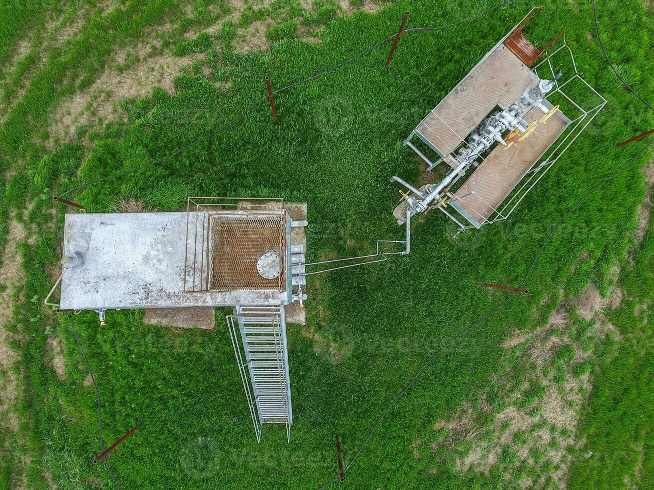
[[[43,305],[58,276],[52,195],[172,154],[266,95],[266,74],[281,88],[323,71],[394,33],[405,10],[411,11],[407,27],[435,27],[494,2],[388,2],[374,13],[358,10],[377,10],[367,1],[107,4],[0,6],[6,176],[0,244],[3,270],[20,263],[20,280],[5,281],[2,289],[11,305],[3,325],[7,342],[20,355],[0,377],[0,387],[13,377],[19,388],[17,431],[0,412],[3,490],[112,488],[105,468],[91,463],[99,453],[97,401],[84,382],[82,355],[65,317]],[[109,460],[122,489],[328,482],[337,474],[334,437],[341,438],[347,465],[432,353],[506,298],[481,285],[519,284],[560,217],[642,150],[645,142],[615,149],[653,127],[654,114],[606,64],[592,5],[543,5],[530,27],[533,39],[548,39],[565,25],[579,73],[608,105],[509,220],[453,241],[452,223],[430,213],[415,220],[411,255],[313,276],[308,326],[288,331],[290,444],[283,427],[274,426],[256,443],[224,328],[226,310],[216,310],[211,332],[145,326],[137,310],[108,312],[104,327],[93,312],[73,317],[99,385],[105,440],[111,444],[139,427]],[[389,69],[386,44],[279,93],[277,123],[262,103],[182,154],[71,199],[89,212],[112,212],[125,198],[179,210],[188,195],[283,197],[307,203],[308,260],[370,253],[375,240],[404,236],[392,218],[399,195],[390,176],[413,184],[421,176],[421,161],[402,140],[531,7],[514,0],[467,24],[406,35]],[[611,0],[598,2],[598,15],[611,61],[651,101],[654,14],[639,0]],[[75,31],[63,35],[71,24]],[[264,30],[256,35],[255,28]],[[126,80],[120,76],[161,57],[175,66],[186,60],[172,90],[162,88],[167,72],[159,80],[153,68],[141,76],[154,80],[151,86],[135,84],[124,96],[97,92],[80,108],[70,103],[79,93],[114,90],[103,75]],[[97,109],[103,97],[114,112]],[[77,110],[77,118],[61,107]],[[71,121],[69,127],[62,121]],[[425,370],[342,485],[654,486],[654,249],[651,231],[640,242],[635,237],[648,190],[642,167],[650,158],[651,152],[642,154],[570,215],[536,263],[526,284],[530,295],[498,310]],[[16,240],[18,255],[11,257],[6,251]],[[603,297],[621,288],[623,301],[593,318],[578,316],[577,299],[591,283]],[[560,308],[570,320],[548,327]],[[605,323],[613,325],[606,334]],[[507,348],[503,343],[515,331],[526,340]],[[545,345],[553,337],[558,342]],[[63,373],[52,368],[52,345],[61,349]],[[542,359],[536,348],[545,352]],[[549,416],[547,400],[555,397],[572,422]],[[517,427],[506,410],[528,414],[529,423]]]

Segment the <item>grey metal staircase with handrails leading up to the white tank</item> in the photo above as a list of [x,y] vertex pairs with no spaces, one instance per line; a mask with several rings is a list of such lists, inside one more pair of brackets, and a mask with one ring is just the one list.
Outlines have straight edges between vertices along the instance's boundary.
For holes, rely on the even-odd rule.
[[283,423],[290,442],[293,411],[284,306],[236,306],[228,331],[257,442],[264,423]]

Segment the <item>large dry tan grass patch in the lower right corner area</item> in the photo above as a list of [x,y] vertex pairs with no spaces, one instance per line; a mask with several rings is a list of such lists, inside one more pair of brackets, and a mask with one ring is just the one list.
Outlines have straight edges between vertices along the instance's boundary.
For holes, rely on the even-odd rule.
[[[615,327],[601,316],[606,302],[591,284],[583,294],[567,302],[567,308],[577,310],[581,318],[597,322],[592,331],[594,339],[604,338],[611,332],[619,340]],[[439,421],[434,431],[444,435],[430,444],[439,457],[443,455],[439,464],[450,464],[464,474],[486,475],[500,466],[507,481],[516,487],[538,486],[547,479],[555,487],[565,487],[572,463],[566,448],[579,449],[583,444],[577,437],[580,408],[592,389],[590,373],[575,374],[573,370],[593,354],[583,351],[581,344],[567,337],[571,321],[568,310],[562,307],[538,331],[513,332],[502,347],[521,348],[523,359],[530,366],[520,368],[523,382],[515,389],[513,375],[495,380],[502,394],[502,408],[497,412],[484,398],[477,408],[467,404],[451,420]],[[566,350],[563,361],[560,360],[562,350]],[[414,456],[418,459],[417,453],[419,446],[414,445]],[[544,473],[538,469],[542,461],[551,465]],[[532,476],[511,481],[512,470],[525,467],[533,469]]]

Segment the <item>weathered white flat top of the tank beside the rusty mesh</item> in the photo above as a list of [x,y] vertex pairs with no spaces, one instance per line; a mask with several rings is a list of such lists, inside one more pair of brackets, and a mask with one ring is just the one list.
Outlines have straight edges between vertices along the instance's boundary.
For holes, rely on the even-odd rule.
[[63,274],[65,310],[279,304],[286,298],[271,290],[184,293],[186,212],[67,214],[63,253],[75,252],[84,263]]

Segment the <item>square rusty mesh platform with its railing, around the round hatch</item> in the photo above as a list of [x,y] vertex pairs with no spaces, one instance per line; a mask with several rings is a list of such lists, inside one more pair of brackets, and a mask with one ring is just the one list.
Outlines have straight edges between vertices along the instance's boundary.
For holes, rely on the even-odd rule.
[[[284,291],[286,220],[282,199],[189,197],[184,291]],[[271,252],[281,269],[267,279],[257,265]]]

